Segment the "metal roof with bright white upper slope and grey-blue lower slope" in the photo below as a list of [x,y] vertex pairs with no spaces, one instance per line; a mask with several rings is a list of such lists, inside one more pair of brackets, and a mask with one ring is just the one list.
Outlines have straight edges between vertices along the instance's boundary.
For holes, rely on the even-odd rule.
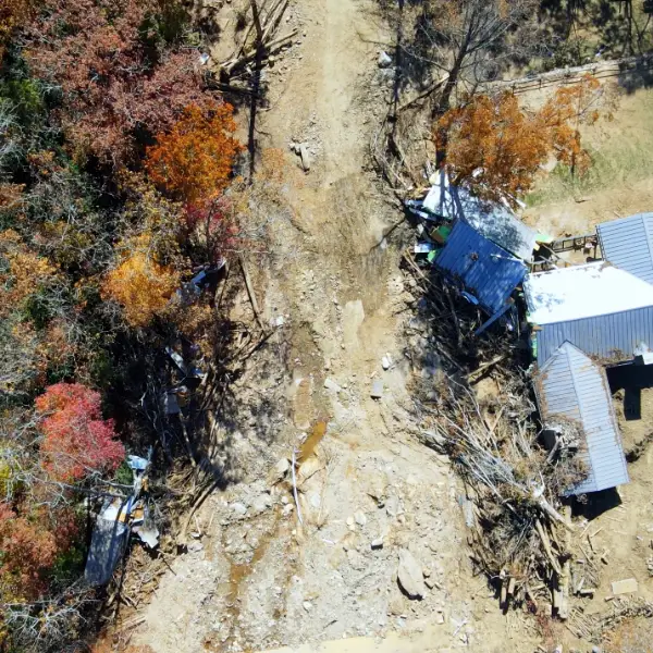
[[604,362],[653,346],[653,286],[605,262],[530,274],[523,283],[537,358],[566,341]]

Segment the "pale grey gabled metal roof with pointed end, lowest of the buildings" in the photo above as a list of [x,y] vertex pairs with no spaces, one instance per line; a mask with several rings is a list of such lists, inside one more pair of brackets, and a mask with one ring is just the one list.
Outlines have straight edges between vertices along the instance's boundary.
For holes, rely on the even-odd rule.
[[564,343],[535,379],[535,394],[544,423],[564,417],[580,426],[587,441],[579,456],[588,478],[572,494],[597,492],[628,482],[626,457],[602,367],[571,343]]

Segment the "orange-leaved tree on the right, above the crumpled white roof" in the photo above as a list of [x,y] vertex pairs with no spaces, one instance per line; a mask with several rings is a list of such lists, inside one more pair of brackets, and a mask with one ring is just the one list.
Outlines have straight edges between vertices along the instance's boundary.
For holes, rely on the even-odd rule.
[[534,112],[522,110],[510,91],[481,95],[447,111],[435,124],[434,139],[446,150],[444,165],[455,185],[514,202],[532,187],[551,156],[578,173],[588,169],[579,126],[599,119],[604,100],[604,89],[591,75],[558,89]]

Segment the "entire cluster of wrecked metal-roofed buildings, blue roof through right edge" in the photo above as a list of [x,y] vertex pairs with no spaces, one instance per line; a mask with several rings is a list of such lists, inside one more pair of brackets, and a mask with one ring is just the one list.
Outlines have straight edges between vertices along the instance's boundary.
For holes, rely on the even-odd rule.
[[553,238],[525,225],[507,202],[452,185],[444,172],[431,182],[423,200],[407,202],[422,221],[416,251],[486,315],[476,335],[498,321],[528,338],[549,445],[575,447],[587,471],[568,494],[627,483],[607,372],[619,368],[628,378],[632,366],[653,364],[653,213],[566,238],[586,251],[590,244],[594,257],[574,266],[556,256],[535,272],[542,257],[534,264],[534,252],[553,251]]

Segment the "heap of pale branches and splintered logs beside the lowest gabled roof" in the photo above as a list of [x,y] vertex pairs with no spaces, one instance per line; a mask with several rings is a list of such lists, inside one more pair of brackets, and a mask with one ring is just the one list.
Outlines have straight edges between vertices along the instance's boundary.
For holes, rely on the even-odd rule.
[[579,471],[571,461],[547,459],[527,387],[515,386],[491,419],[466,385],[449,380],[427,423],[465,481],[472,557],[501,605],[528,604],[565,619],[576,588],[574,527],[558,496]]

